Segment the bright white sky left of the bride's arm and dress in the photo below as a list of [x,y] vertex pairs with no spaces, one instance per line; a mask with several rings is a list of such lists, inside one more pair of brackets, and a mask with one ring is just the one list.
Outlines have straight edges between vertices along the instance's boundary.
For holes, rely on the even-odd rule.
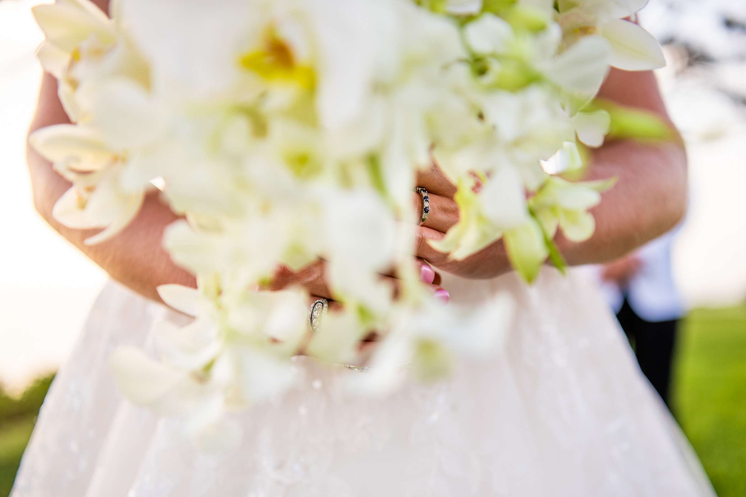
[[59,366],[106,280],[31,203],[25,134],[41,69],[29,3],[0,1],[0,382],[19,387]]

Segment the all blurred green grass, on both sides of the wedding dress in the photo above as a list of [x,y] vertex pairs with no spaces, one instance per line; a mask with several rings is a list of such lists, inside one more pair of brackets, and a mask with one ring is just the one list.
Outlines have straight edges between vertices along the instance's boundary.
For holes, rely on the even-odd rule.
[[[0,391],[0,496],[10,492],[51,378],[21,399]],[[674,369],[674,411],[720,497],[746,496],[746,307],[686,319]]]

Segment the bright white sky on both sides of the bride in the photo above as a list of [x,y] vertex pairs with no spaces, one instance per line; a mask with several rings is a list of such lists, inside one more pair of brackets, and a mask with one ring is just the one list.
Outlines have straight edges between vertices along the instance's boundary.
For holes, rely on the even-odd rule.
[[[13,389],[66,358],[106,280],[44,224],[31,203],[25,133],[41,75],[33,57],[41,34],[28,10],[32,3],[0,1],[0,382]],[[668,29],[660,10],[653,14],[652,31]],[[721,42],[701,32],[697,37]],[[746,111],[711,87],[744,89],[746,63],[722,64],[686,81],[675,79],[673,69],[660,76],[674,121],[689,142],[692,171],[694,204],[674,256],[680,288],[690,305],[743,302]]]

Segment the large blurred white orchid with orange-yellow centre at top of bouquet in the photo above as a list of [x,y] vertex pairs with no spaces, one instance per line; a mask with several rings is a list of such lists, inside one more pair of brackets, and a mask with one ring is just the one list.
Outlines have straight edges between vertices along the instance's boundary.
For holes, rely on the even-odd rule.
[[[240,91],[285,108],[311,98],[322,124],[336,128],[360,112],[378,78],[395,72],[401,29],[391,13],[399,3],[236,0],[216,11],[198,2],[133,0],[122,10],[158,88],[201,97]],[[175,9],[184,29],[166,33]],[[195,36],[194,25],[221,36]],[[175,51],[189,57],[175,60]]]

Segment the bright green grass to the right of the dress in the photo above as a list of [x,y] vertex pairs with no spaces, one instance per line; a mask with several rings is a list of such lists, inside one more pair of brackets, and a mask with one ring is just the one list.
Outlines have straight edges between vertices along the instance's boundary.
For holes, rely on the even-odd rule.
[[675,375],[677,420],[718,496],[746,496],[746,308],[692,312]]

